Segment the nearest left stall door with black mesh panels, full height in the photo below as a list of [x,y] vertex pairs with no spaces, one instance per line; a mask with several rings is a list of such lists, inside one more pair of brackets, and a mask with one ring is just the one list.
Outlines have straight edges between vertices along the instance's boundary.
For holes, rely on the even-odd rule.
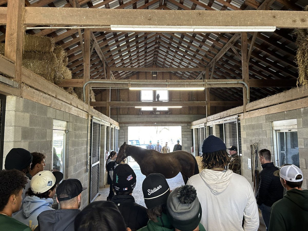
[[94,201],[99,193],[99,145],[100,124],[91,120],[90,126],[90,202]]

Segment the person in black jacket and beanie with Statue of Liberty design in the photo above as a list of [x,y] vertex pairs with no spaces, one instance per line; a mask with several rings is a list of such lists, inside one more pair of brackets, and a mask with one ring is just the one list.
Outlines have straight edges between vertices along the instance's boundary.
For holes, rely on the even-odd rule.
[[124,217],[125,224],[134,230],[138,230],[148,223],[148,213],[145,207],[135,203],[132,196],[136,186],[136,174],[128,164],[119,164],[113,172],[112,180],[115,196],[111,201],[117,205]]

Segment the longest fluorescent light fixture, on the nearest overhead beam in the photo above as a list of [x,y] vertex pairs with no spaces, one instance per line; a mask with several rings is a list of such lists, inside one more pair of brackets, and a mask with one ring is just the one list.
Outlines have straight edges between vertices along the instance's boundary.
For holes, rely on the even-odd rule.
[[117,31],[162,31],[162,32],[245,32],[245,31],[275,31],[276,26],[139,26],[110,25]]

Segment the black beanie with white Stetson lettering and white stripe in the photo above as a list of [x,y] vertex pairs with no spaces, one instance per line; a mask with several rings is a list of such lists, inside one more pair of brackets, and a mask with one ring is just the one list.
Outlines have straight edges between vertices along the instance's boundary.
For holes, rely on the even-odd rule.
[[151,173],[142,182],[144,203],[148,209],[167,203],[170,188],[163,174]]

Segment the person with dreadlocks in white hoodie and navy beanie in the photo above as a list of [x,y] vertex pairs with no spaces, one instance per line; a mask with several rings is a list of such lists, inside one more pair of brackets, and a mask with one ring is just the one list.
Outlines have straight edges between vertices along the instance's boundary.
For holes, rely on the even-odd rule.
[[202,144],[205,169],[187,182],[197,190],[201,224],[207,231],[257,231],[259,213],[253,189],[245,177],[225,169],[229,162],[226,149],[220,138],[207,137]]

